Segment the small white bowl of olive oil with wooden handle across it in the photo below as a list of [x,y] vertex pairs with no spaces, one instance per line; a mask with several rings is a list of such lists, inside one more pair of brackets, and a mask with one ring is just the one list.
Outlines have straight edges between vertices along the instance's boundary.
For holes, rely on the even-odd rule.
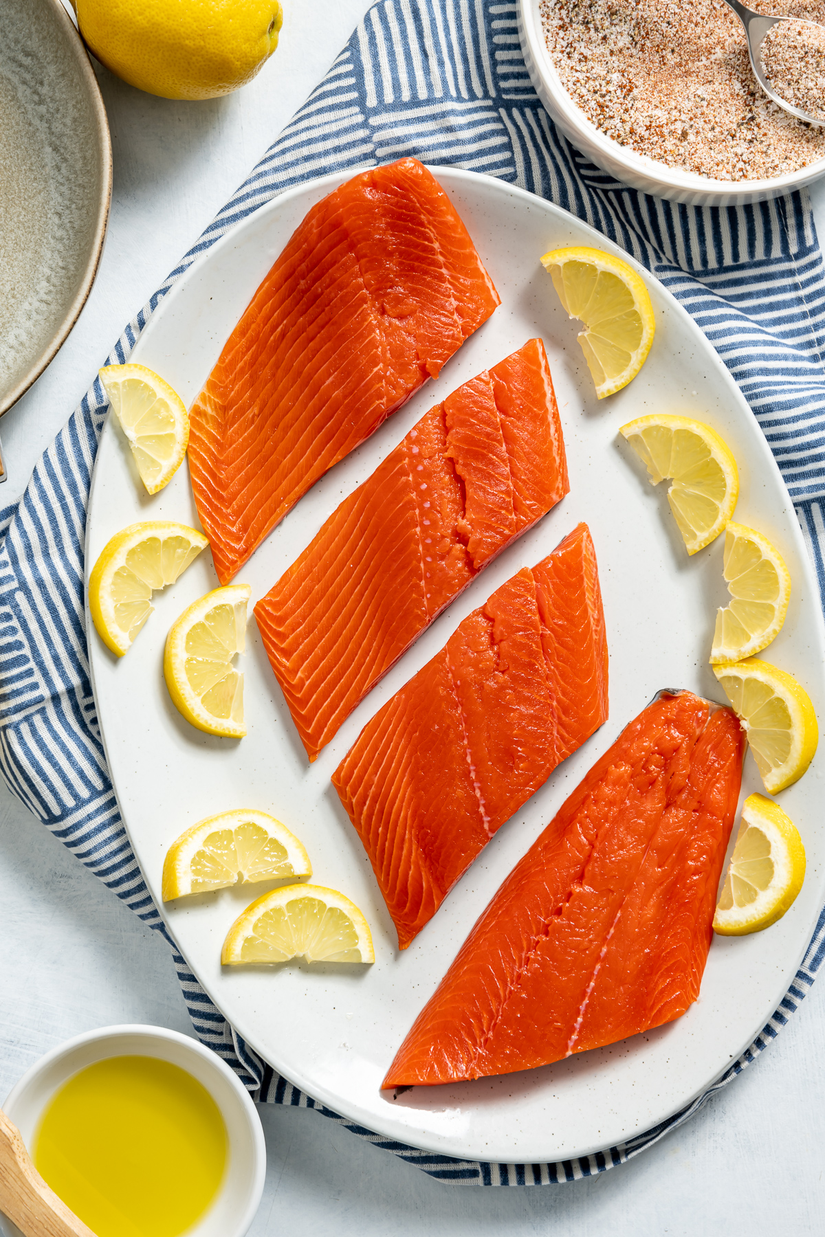
[[[249,1092],[195,1039],[104,1027],[61,1044],[2,1106],[41,1176],[96,1237],[244,1237],[266,1144]],[[0,1215],[0,1232],[21,1237]]]

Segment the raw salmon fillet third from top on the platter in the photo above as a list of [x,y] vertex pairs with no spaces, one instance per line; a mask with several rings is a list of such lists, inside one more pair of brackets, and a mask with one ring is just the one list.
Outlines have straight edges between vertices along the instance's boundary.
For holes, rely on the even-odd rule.
[[596,554],[579,524],[468,615],[333,774],[401,949],[606,717]]

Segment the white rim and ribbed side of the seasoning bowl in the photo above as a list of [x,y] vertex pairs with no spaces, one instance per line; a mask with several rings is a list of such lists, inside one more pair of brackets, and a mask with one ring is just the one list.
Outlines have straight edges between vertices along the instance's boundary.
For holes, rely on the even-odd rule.
[[[527,72],[539,99],[564,136],[617,181],[672,202],[700,207],[733,207],[764,202],[825,176],[825,158],[769,179],[711,179],[637,153],[607,137],[573,101],[547,47],[541,0],[517,0],[518,36]],[[732,16],[732,14],[731,14]],[[735,21],[737,19],[733,19]],[[745,35],[742,33],[742,37]]]

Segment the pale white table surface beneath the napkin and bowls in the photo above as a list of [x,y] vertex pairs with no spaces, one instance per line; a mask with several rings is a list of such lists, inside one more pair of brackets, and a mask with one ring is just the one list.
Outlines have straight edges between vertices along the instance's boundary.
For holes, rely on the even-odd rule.
[[[323,77],[367,0],[286,0],[281,46],[210,103],[141,94],[99,69],[114,147],[109,235],[68,341],[0,429],[22,491],[122,325],[162,282]],[[813,194],[825,238],[825,182]],[[0,785],[0,1098],[42,1053],[93,1027],[192,1034],[166,944]],[[689,1124],[588,1181],[442,1185],[317,1113],[263,1106],[268,1171],[252,1237],[754,1237],[821,1233],[825,978],[779,1039]],[[293,1227],[294,1226],[294,1227]]]

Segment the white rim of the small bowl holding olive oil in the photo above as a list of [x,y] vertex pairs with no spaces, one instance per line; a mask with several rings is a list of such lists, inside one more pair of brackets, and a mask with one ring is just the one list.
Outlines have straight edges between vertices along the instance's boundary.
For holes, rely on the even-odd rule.
[[[184,1053],[189,1051],[193,1056],[198,1056],[202,1061],[205,1061],[208,1066],[212,1066],[219,1075],[223,1075],[225,1081],[230,1084],[230,1089],[235,1095],[239,1108],[246,1118],[252,1143],[252,1185],[249,1192],[249,1199],[244,1210],[239,1212],[233,1231],[225,1233],[225,1237],[242,1237],[242,1235],[249,1231],[263,1195],[263,1183],[266,1178],[266,1138],[263,1136],[263,1127],[261,1126],[261,1118],[257,1115],[255,1103],[239,1076],[233,1069],[230,1069],[221,1056],[219,1056],[210,1048],[207,1048],[198,1039],[194,1039],[190,1035],[184,1035],[179,1030],[171,1030],[167,1027],[155,1027],[150,1023],[118,1023],[111,1027],[96,1027],[93,1030],[84,1030],[79,1035],[74,1035],[72,1039],[66,1039],[62,1044],[57,1044],[54,1048],[51,1048],[32,1065],[30,1065],[26,1072],[17,1080],[6,1096],[2,1103],[2,1111],[10,1121],[15,1121],[15,1106],[20,1103],[22,1097],[26,1095],[26,1091],[46,1070],[49,1069],[51,1065],[59,1061],[62,1058],[72,1056],[72,1054],[87,1048],[90,1044],[96,1043],[103,1048],[108,1040],[126,1035],[151,1040],[161,1048],[163,1048],[165,1044],[176,1044],[178,1048],[182,1048]],[[103,1053],[98,1059],[105,1060],[106,1054]],[[166,1055],[161,1059],[168,1060]],[[93,1063],[87,1061],[85,1064],[89,1065]],[[84,1066],[78,1068],[82,1069]],[[200,1081],[215,1102],[218,1102],[218,1098],[215,1097],[209,1084],[203,1080]],[[5,1217],[0,1216],[0,1220],[5,1220]]]

